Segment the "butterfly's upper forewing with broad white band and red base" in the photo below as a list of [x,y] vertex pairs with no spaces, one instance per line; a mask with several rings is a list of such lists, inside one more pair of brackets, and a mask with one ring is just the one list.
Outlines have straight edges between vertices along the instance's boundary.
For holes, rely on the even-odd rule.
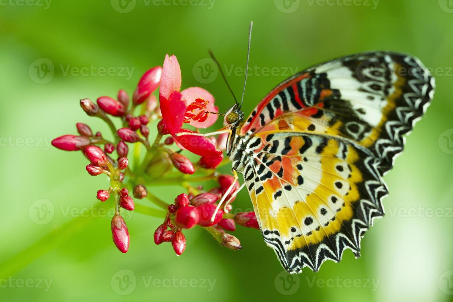
[[360,53],[308,68],[275,87],[241,134],[291,129],[352,139],[381,158],[384,174],[433,94],[434,78],[417,58]]

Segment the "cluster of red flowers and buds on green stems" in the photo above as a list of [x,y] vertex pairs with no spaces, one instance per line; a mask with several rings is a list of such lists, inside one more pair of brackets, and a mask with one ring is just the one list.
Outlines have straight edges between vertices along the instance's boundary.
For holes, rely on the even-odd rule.
[[[158,101],[153,92],[159,86]],[[236,230],[236,223],[259,228],[254,212],[230,213],[231,202],[240,188],[239,182],[231,175],[218,176],[218,172],[213,170],[223,162],[229,134],[207,137],[199,133],[198,129],[210,127],[217,120],[218,115],[215,113],[218,108],[214,102],[214,97],[200,87],[181,90],[178,60],[175,56],[167,55],[163,67],[157,66],[145,72],[131,100],[122,89],[116,98],[101,96],[96,103],[90,99],[80,100],[80,106],[88,116],[107,123],[112,131],[110,139],[99,131],[94,133],[84,123],[77,123],[78,135],[67,134],[52,141],[58,149],[82,151],[90,162],[85,167],[89,175],[105,174],[108,177],[109,188],[98,190],[96,198],[102,202],[113,200],[115,215],[111,220],[112,238],[121,252],[126,253],[129,249],[130,236],[120,211],[135,209],[132,196],[136,201],[148,197],[156,205],[168,209],[164,223],[154,232],[154,242],[171,242],[177,255],[182,254],[186,247],[186,237],[182,232],[185,229],[200,226],[208,230],[222,246],[237,250],[241,249],[241,243],[226,231]],[[135,111],[140,114],[135,114]],[[111,120],[114,117],[120,120],[121,126],[118,128]],[[150,134],[148,126],[153,121],[157,129],[154,143],[150,144],[149,137],[153,134]],[[131,144],[145,148],[136,148],[137,145]],[[131,146],[134,146],[132,165],[128,157]],[[146,153],[140,156],[143,150]],[[189,158],[193,158],[193,154],[186,156],[185,152],[198,155],[199,160],[191,161]],[[174,177],[170,173],[173,168],[186,175]],[[203,190],[202,186],[194,188],[189,185],[192,177],[193,182],[216,178],[218,186],[208,191]],[[181,184],[188,189],[188,193],[179,194],[174,203],[168,205],[148,192],[142,184],[149,187],[156,181]],[[131,192],[128,188],[131,188]],[[143,208],[137,205],[135,211]]]

